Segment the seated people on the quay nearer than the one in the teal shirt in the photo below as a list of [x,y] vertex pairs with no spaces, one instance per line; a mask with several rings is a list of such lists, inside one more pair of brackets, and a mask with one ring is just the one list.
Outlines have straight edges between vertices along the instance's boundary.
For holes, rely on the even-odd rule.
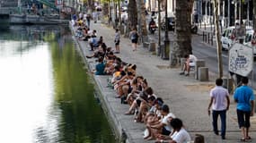
[[146,140],[172,143],[190,141],[190,134],[183,128],[181,119],[172,114],[169,105],[164,104],[161,97],[156,97],[146,79],[136,74],[136,69],[136,64],[127,64],[116,69],[109,80],[120,103],[129,105],[124,114],[134,115],[135,122],[145,124]]

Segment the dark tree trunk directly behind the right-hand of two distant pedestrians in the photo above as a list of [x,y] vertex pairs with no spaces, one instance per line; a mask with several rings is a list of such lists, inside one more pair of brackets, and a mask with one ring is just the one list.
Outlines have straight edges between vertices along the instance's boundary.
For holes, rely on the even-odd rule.
[[137,4],[136,0],[129,0],[128,3],[128,30],[126,31],[126,36],[128,36],[129,31],[133,28],[137,28]]

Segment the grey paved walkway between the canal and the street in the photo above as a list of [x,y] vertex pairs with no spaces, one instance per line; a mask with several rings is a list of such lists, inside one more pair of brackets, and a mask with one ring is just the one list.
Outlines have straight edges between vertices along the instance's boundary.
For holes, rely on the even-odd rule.
[[[97,35],[103,36],[107,46],[114,47],[114,29],[101,23],[93,23],[91,29],[96,29]],[[84,41],[79,41],[79,43],[84,49],[84,55],[88,54],[87,43]],[[239,142],[241,135],[236,122],[235,104],[232,96],[230,96],[232,102],[226,119],[226,139],[222,140],[220,136],[216,136],[212,132],[211,118],[207,115],[207,105],[209,102],[208,92],[210,88],[214,87],[215,79],[210,79],[209,82],[199,82],[194,79],[192,74],[189,77],[181,76],[179,75],[181,69],[170,69],[168,67],[169,61],[163,61],[160,57],[148,52],[142,45],[138,46],[136,52],[133,52],[128,38],[121,38],[118,56],[127,63],[137,64],[137,74],[143,75],[148,80],[149,86],[154,89],[154,93],[158,97],[163,97],[165,104],[170,105],[171,112],[181,118],[185,128],[190,131],[192,139],[196,133],[199,133],[204,135],[206,142],[209,143]],[[91,62],[95,61],[95,59],[90,60]],[[105,92],[109,93],[110,90],[106,89]],[[116,110],[114,113],[122,124],[122,128],[128,131],[129,138],[131,138],[129,142],[148,142],[142,139],[144,124],[133,122],[132,116],[123,115],[128,110],[128,105],[120,105],[119,99],[114,98],[115,95],[109,94],[109,96],[108,100],[113,105],[113,110]],[[251,136],[256,138],[255,117],[253,120]],[[256,139],[252,139],[252,142],[256,142]]]

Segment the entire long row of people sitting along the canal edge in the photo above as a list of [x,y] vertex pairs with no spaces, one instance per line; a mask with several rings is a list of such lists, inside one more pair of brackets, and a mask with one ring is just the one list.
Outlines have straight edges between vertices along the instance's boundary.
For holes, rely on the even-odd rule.
[[145,124],[144,139],[170,143],[189,142],[190,134],[183,128],[181,119],[172,114],[163,98],[154,94],[146,78],[137,75],[137,65],[123,62],[114,55],[111,47],[106,46],[102,37],[100,41],[93,48],[93,55],[86,56],[98,58],[93,73],[110,75],[108,86],[116,91],[115,97],[120,99],[121,104],[129,105],[124,114],[134,115],[135,122]]

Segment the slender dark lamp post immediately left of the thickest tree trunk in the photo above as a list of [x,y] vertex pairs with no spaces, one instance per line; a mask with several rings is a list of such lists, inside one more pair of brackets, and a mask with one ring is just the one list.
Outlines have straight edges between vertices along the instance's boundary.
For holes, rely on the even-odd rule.
[[168,13],[167,13],[167,0],[165,0],[165,31],[164,31],[164,48],[163,48],[163,60],[169,59],[169,46],[170,46],[170,40],[168,36]]

